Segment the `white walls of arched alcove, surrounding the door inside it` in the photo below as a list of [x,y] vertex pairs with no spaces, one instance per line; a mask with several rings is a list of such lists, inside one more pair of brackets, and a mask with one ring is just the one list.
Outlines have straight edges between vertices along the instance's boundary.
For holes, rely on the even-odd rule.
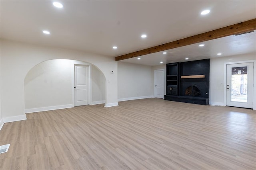
[[100,68],[84,61],[52,59],[36,64],[27,72],[25,113],[74,107],[74,64],[90,66],[90,104],[105,103],[106,77]]

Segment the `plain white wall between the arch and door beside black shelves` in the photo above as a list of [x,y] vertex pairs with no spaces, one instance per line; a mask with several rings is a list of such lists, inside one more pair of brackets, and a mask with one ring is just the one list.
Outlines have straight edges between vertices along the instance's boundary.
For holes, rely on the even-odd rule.
[[152,66],[118,61],[118,101],[152,96]]

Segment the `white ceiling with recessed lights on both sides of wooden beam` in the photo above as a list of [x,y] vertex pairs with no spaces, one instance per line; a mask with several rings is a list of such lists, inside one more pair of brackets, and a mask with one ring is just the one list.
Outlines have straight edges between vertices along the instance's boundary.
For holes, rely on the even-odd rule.
[[[1,0],[1,39],[76,49],[111,57],[175,41],[256,18],[256,1],[53,1]],[[202,10],[211,10],[206,16]],[[44,35],[42,30],[50,31]],[[142,39],[140,35],[147,34]],[[250,35],[250,34],[247,34]],[[256,52],[252,36],[225,37],[142,56],[140,64],[158,65]],[[113,46],[118,49],[112,49]],[[159,57],[161,56],[161,57]],[[136,58],[127,62],[138,63]]]

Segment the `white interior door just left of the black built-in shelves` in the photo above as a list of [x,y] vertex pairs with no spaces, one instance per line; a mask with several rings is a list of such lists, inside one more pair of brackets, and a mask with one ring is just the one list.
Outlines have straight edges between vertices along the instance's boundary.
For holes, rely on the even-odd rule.
[[164,70],[154,70],[154,98],[164,98]]

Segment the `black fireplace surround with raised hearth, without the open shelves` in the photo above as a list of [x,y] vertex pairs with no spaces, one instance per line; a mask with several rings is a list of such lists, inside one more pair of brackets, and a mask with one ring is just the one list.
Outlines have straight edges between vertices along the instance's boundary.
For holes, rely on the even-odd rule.
[[[168,94],[165,100],[193,104],[209,104],[210,59],[178,63],[177,95]],[[166,66],[167,67],[167,66]],[[204,78],[181,78],[181,76],[204,75]]]

